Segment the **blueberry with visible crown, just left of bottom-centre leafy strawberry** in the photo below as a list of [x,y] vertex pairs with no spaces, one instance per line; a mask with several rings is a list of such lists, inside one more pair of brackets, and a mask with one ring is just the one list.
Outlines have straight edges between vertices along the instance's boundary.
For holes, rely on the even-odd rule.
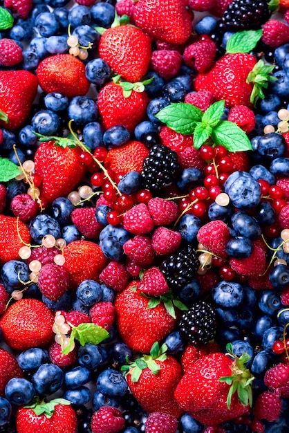
[[127,381],[120,371],[106,369],[97,378],[98,391],[105,396],[121,397],[127,392]]

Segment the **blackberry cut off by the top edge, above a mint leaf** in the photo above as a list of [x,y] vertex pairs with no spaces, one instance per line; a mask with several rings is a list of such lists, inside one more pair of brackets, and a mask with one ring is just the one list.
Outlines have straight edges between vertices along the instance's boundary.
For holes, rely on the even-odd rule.
[[234,0],[223,13],[225,30],[257,30],[270,18],[269,0]]

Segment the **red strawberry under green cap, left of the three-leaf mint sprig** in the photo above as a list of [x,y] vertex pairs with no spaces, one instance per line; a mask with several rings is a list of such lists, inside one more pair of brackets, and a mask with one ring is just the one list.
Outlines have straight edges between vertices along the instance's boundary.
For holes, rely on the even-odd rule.
[[145,116],[149,97],[145,91],[133,90],[126,98],[120,84],[110,82],[102,87],[97,103],[105,129],[123,125],[133,132],[133,129]]

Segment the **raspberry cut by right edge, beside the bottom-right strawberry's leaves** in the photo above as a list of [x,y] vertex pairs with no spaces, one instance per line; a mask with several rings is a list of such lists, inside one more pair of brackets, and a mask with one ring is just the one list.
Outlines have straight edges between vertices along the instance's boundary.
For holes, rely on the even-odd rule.
[[271,391],[278,391],[282,398],[289,397],[289,365],[277,364],[265,372],[264,383]]

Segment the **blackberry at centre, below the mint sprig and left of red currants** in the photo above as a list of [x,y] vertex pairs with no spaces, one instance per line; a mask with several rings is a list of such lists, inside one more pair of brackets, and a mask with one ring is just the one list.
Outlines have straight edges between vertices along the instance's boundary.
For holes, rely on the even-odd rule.
[[178,154],[174,150],[165,145],[154,145],[142,164],[142,187],[159,192],[173,183],[179,167]]

